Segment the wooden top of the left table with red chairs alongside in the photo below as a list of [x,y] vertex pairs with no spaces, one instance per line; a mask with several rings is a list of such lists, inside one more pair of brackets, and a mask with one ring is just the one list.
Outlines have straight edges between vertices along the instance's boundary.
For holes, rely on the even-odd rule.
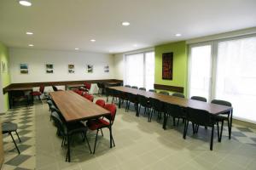
[[50,92],[55,105],[61,111],[66,122],[87,120],[99,116],[108,116],[110,112],[101,106],[90,102],[88,99],[73,91]]

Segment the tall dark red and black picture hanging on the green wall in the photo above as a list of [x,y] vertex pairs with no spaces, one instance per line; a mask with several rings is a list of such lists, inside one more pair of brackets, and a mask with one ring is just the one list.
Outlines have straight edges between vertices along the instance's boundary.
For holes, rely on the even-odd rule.
[[162,54],[162,79],[172,80],[173,53]]

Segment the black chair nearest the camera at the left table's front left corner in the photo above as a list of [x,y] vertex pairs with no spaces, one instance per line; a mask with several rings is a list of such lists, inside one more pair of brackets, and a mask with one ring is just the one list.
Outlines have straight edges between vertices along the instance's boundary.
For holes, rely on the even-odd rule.
[[57,135],[62,137],[61,147],[66,143],[67,140],[66,161],[68,159],[68,154],[70,154],[70,140],[72,139],[72,136],[75,133],[80,133],[82,135],[83,141],[86,140],[90,150],[90,144],[86,136],[87,127],[85,127],[83,123],[76,122],[67,124],[66,122],[63,122],[61,116],[59,116],[59,114],[56,111],[53,111],[51,116],[52,120],[55,122],[55,126],[57,127]]

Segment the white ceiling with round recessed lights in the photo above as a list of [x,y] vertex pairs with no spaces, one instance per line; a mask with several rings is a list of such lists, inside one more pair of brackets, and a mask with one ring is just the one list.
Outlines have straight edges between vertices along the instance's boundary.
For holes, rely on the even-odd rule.
[[256,0],[0,0],[8,47],[120,53],[254,26]]

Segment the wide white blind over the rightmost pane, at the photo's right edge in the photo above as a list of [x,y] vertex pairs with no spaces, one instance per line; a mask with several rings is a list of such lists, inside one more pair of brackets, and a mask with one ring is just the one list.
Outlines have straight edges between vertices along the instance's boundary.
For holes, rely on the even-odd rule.
[[218,42],[215,96],[232,103],[234,116],[256,122],[256,37]]

